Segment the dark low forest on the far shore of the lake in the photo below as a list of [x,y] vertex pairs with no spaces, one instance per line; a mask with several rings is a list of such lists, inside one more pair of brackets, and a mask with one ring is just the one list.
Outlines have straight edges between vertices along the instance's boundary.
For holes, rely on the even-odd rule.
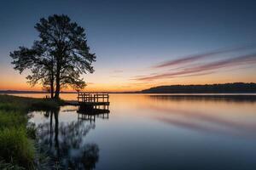
[[158,86],[143,90],[143,94],[230,94],[256,93],[256,83],[224,83],[205,85]]

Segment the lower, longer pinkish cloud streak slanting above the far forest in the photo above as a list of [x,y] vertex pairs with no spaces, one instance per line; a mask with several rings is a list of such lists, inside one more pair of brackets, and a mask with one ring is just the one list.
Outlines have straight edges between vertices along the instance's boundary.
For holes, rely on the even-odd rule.
[[247,55],[241,55],[235,58],[230,59],[221,59],[218,61],[210,62],[207,64],[202,65],[195,65],[189,68],[183,69],[183,71],[171,71],[166,73],[160,73],[155,74],[154,76],[144,76],[144,77],[137,77],[135,80],[139,81],[153,81],[155,79],[160,78],[171,78],[171,77],[177,77],[177,76],[185,76],[189,74],[203,74],[204,71],[209,71],[212,73],[212,71],[216,71],[218,69],[231,67],[231,66],[237,66],[237,65],[247,65],[247,64],[255,64],[256,63],[256,54],[247,54]]

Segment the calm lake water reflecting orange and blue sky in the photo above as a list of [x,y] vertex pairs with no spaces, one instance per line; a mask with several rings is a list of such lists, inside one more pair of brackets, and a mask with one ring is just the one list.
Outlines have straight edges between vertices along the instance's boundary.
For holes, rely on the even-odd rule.
[[30,113],[63,169],[256,169],[256,99],[110,94],[109,113],[78,110]]

